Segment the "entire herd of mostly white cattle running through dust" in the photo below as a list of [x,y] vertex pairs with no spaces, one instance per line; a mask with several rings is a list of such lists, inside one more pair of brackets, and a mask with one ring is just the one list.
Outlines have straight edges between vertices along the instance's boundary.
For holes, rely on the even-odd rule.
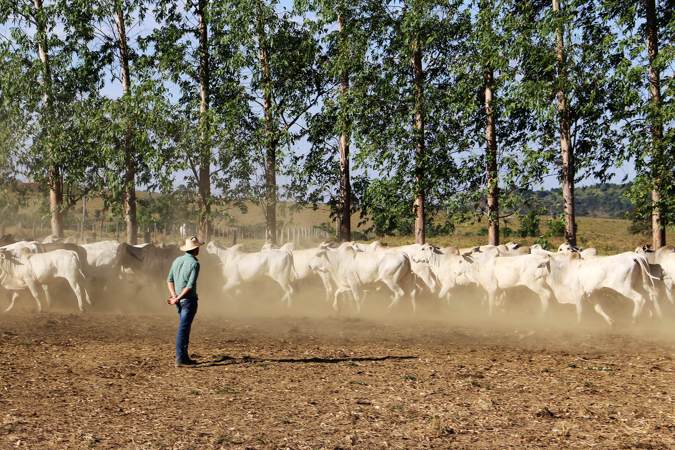
[[[267,279],[281,287],[281,303],[288,308],[298,290],[312,283],[325,289],[325,301],[332,302],[335,310],[350,304],[356,314],[369,291],[388,293],[389,310],[409,300],[413,312],[421,298],[452,304],[461,291],[462,298],[485,305],[491,314],[495,308],[508,307],[509,298],[520,298],[518,289],[525,288],[541,300],[541,314],[546,314],[552,301],[574,306],[578,320],[585,308],[592,307],[610,325],[614,319],[601,305],[604,297],[597,294],[613,292],[624,298],[632,305],[633,321],[643,314],[660,318],[664,302],[675,300],[673,246],[656,251],[643,246],[613,256],[569,244],[549,252],[536,244],[530,248],[512,242],[461,249],[432,244],[387,247],[379,241],[340,246],[323,242],[303,250],[289,243],[281,248],[266,244],[261,252],[248,253],[241,244],[227,248],[211,241],[206,250],[200,254],[200,291],[204,286],[216,287],[223,298],[234,300],[246,284]],[[42,311],[43,293],[49,306],[50,289],[65,283],[82,311],[84,302],[91,304],[106,289],[114,292],[115,283],[149,285],[163,294],[171,262],[180,254],[173,245],[105,241],[78,246],[55,236],[45,242],[9,244],[0,248],[0,285],[11,297],[6,311],[24,290]],[[205,266],[216,272],[205,273]]]

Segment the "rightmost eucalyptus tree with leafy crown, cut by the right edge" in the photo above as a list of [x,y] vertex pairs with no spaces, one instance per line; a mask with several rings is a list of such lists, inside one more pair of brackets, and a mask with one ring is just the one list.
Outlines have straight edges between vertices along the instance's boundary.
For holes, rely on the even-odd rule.
[[[627,159],[637,177],[630,190],[640,216],[651,216],[653,247],[666,243],[675,223],[675,7],[672,1],[607,0],[603,13],[621,30],[614,82],[621,92],[617,122],[626,132]],[[648,208],[639,208],[651,198]]]

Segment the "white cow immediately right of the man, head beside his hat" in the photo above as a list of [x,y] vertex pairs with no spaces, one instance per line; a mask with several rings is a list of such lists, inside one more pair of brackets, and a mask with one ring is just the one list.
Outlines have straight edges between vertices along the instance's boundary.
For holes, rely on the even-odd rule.
[[215,240],[207,244],[207,252],[217,255],[223,264],[223,293],[240,287],[242,283],[271,278],[286,293],[281,304],[286,302],[288,308],[292,306],[297,277],[291,252],[270,248],[265,252],[246,253],[242,244],[227,248]]

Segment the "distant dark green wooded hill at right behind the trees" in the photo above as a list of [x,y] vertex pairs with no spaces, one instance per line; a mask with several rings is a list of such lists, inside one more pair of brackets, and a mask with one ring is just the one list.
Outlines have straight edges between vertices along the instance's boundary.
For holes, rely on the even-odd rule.
[[[632,211],[633,206],[624,198],[630,184],[599,183],[593,186],[574,188],[574,212],[577,216],[621,217]],[[531,191],[538,203],[549,213],[562,213],[562,188],[547,191]]]

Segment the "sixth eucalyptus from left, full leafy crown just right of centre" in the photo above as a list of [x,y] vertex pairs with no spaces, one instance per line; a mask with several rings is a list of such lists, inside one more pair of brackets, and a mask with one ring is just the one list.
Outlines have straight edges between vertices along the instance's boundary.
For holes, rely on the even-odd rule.
[[[467,181],[456,157],[468,140],[456,133],[452,70],[470,26],[461,3],[401,1],[371,6],[365,64],[354,76],[358,107],[354,140],[362,216],[380,229],[410,227],[425,242],[425,227]],[[388,218],[385,218],[388,217]],[[447,227],[442,223],[437,227]]]

